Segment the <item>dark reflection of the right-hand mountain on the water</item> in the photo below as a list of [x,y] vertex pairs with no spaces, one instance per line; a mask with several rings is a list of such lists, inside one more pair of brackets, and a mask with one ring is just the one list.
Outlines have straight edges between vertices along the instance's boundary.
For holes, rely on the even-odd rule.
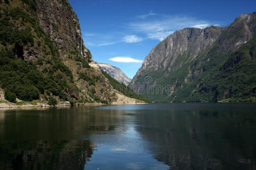
[[256,168],[255,105],[175,107],[137,114],[155,159],[171,169]]

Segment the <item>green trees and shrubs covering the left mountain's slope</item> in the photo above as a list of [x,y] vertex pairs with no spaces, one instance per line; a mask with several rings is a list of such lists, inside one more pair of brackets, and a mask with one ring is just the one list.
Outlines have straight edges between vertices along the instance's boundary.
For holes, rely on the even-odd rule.
[[[20,8],[1,4],[0,86],[5,90],[5,97],[13,103],[16,98],[38,100],[40,95],[54,95],[68,100],[68,88],[73,83],[72,72],[60,61],[55,42],[40,28],[35,1],[22,2],[28,8],[26,5]],[[46,56],[34,62],[25,61],[24,46],[35,45]]]

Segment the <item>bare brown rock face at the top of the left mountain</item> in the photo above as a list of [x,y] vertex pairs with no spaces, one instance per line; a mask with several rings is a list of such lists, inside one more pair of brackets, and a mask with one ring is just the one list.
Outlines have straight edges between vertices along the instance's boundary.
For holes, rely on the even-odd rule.
[[82,40],[79,19],[69,2],[36,0],[36,4],[40,27],[59,46],[61,59],[65,60],[69,52],[78,51],[82,57],[91,61],[92,56]]

